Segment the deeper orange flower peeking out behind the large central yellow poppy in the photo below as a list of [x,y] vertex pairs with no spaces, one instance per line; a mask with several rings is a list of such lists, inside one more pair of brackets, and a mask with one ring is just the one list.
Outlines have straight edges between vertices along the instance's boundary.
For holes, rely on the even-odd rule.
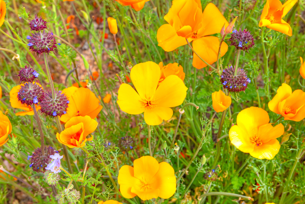
[[163,80],[170,75],[176,75],[181,78],[182,81],[184,80],[185,73],[183,72],[183,67],[181,65],[178,66],[178,63],[169,63],[163,66],[163,62],[160,62],[158,65],[161,72],[159,83],[163,82]]

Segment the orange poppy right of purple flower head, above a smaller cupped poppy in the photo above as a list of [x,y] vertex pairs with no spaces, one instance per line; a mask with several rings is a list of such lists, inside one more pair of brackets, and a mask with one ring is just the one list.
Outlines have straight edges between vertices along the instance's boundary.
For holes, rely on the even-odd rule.
[[103,108],[99,105],[99,99],[89,89],[71,86],[63,89],[63,93],[66,94],[69,104],[67,113],[60,117],[62,122],[67,122],[74,116],[88,115],[94,119]]

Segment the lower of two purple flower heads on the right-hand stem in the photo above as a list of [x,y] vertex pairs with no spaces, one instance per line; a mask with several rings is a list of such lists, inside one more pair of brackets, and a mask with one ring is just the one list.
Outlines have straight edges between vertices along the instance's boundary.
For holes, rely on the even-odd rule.
[[220,82],[223,84],[224,89],[228,89],[229,92],[241,92],[245,91],[248,83],[251,82],[247,78],[246,72],[240,67],[237,69],[237,74],[234,76],[235,69],[232,66],[224,69],[222,72],[222,78]]

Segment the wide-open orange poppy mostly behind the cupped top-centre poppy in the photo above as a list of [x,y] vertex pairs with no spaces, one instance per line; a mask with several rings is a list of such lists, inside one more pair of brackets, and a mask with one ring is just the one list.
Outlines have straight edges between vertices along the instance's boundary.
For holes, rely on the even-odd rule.
[[[213,64],[217,60],[219,40],[217,37],[208,35],[219,33],[223,25],[227,27],[229,25],[228,21],[214,4],[209,3],[202,14],[202,27],[188,38],[188,42],[193,41],[193,48],[196,53],[209,64]],[[187,44],[185,38],[178,36],[170,24],[164,24],[158,29],[157,41],[158,46],[167,52]],[[221,56],[224,56],[227,51],[228,45],[223,42],[221,44]],[[196,54],[193,54],[192,64],[197,69],[207,66]]]

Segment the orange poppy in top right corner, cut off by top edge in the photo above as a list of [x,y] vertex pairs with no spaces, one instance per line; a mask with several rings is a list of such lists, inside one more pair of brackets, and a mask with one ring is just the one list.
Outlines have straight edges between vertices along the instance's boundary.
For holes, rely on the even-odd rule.
[[282,18],[289,12],[298,0],[288,0],[283,5],[280,0],[267,0],[259,26],[266,26],[275,31],[292,36],[292,29]]

